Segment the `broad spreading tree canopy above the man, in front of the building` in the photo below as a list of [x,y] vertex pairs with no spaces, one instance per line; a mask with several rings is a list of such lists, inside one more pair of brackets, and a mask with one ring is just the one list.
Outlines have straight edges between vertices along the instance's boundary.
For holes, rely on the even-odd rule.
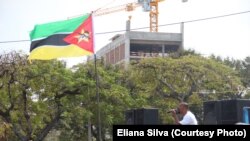
[[236,98],[241,86],[236,71],[197,55],[145,59],[131,70],[137,94],[146,95],[150,106],[170,109],[178,101],[189,101],[200,121],[203,101]]

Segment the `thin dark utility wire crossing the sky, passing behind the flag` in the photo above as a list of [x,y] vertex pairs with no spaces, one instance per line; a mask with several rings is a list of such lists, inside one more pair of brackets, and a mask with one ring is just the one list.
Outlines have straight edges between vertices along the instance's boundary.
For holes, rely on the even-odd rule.
[[[214,16],[214,17],[208,17],[208,18],[202,18],[202,19],[196,19],[196,20],[189,20],[189,21],[184,21],[184,22],[175,22],[175,23],[162,24],[162,25],[158,25],[158,27],[177,25],[177,24],[181,24],[181,23],[192,23],[192,22],[206,21],[206,20],[211,20],[211,19],[218,19],[218,18],[224,18],[224,17],[247,14],[247,13],[250,13],[250,10],[249,11],[244,11],[244,12],[221,15],[221,16]],[[141,30],[141,29],[148,29],[148,28],[149,27],[147,26],[147,27],[133,28],[131,30],[133,31],[133,30]],[[124,31],[126,31],[126,30],[115,30],[115,31],[100,32],[100,33],[95,33],[95,34],[96,35],[102,35],[102,34],[118,33],[118,32],[124,32]],[[28,41],[30,41],[30,40],[0,41],[0,44],[15,43],[15,42],[28,42]]]

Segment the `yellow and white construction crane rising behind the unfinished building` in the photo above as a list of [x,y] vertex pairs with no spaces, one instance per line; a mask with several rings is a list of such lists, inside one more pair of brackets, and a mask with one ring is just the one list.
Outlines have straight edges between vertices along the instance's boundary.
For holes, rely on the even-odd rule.
[[164,0],[138,0],[137,2],[133,3],[128,3],[106,9],[100,9],[95,11],[93,14],[95,16],[101,16],[119,11],[133,11],[137,7],[142,6],[144,12],[149,12],[150,32],[158,32],[158,3],[162,1]]

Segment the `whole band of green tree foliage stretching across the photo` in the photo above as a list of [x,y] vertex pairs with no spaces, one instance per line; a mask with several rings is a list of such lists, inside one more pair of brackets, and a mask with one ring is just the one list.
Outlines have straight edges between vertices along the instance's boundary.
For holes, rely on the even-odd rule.
[[[226,64],[204,58],[194,51],[180,56],[144,59],[128,69],[104,66],[98,61],[97,77],[93,62],[68,69],[56,60],[30,64],[27,56],[19,53],[2,56],[0,116],[9,125],[8,137],[40,141],[51,131],[47,140],[54,133],[61,141],[81,140],[87,138],[86,125],[90,121],[96,138],[96,78],[102,135],[111,135],[113,124],[124,123],[124,112],[131,108],[158,108],[161,122],[173,123],[166,111],[179,101],[187,101],[202,121],[204,101],[241,96],[237,94],[243,80],[239,76],[248,74],[248,60],[239,69],[231,68],[230,61]],[[247,84],[248,80],[242,82]],[[4,130],[0,127],[0,135]]]

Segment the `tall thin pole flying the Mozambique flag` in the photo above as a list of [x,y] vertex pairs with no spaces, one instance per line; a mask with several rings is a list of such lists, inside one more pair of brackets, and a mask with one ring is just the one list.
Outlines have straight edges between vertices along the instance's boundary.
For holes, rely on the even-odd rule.
[[97,74],[97,57],[96,57],[96,50],[95,50],[95,30],[94,30],[94,17],[93,12],[91,13],[92,16],[92,32],[93,32],[93,48],[94,48],[94,62],[95,62],[95,80],[96,80],[96,97],[97,97],[97,141],[102,141],[102,130],[101,130],[101,113],[100,113],[100,94],[99,94],[99,83],[98,83],[98,74]]

